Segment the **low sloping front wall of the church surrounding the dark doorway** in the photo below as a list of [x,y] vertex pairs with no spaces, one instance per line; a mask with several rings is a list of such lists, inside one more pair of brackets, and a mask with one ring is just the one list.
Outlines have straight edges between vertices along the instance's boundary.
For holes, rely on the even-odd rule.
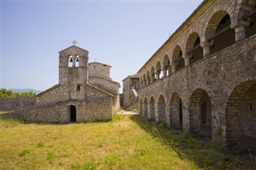
[[112,97],[34,107],[13,113],[4,113],[1,117],[30,122],[69,123],[70,110],[68,108],[70,107],[68,106],[70,105],[74,105],[77,110],[76,118],[78,122],[108,121],[112,119]]

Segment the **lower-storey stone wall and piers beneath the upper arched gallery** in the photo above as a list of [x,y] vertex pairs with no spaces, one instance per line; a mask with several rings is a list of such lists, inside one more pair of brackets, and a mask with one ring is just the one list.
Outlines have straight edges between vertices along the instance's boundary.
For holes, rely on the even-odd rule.
[[142,101],[145,98],[150,101],[150,97],[154,97],[154,102],[157,103],[162,94],[166,101],[167,124],[170,125],[170,101],[172,95],[178,93],[182,99],[183,128],[190,130],[190,97],[195,90],[202,89],[209,95],[212,104],[213,136],[215,139],[225,140],[226,102],[230,93],[243,81],[256,80],[255,42],[256,36],[253,36],[213,53],[168,77],[142,87],[139,97]]

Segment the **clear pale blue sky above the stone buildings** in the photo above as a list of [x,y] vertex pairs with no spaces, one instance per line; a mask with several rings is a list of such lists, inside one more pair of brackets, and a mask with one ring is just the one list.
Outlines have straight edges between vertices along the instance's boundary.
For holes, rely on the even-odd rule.
[[58,84],[58,51],[74,39],[122,85],[201,2],[1,1],[0,88]]

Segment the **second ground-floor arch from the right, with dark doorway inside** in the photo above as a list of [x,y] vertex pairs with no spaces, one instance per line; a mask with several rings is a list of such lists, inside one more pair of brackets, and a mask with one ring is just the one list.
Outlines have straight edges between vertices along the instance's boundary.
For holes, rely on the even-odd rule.
[[208,93],[196,89],[189,102],[190,131],[212,137],[212,105]]

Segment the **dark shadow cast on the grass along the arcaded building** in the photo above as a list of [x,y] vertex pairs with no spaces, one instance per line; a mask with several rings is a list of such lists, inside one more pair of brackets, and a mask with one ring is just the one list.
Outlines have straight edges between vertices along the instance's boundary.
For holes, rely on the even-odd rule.
[[250,157],[250,152],[239,155],[238,152],[225,148],[220,142],[196,138],[189,132],[169,130],[165,124],[148,121],[146,117],[130,116],[130,119],[155,140],[174,149],[182,160],[190,160],[198,168],[256,169],[255,157]]

